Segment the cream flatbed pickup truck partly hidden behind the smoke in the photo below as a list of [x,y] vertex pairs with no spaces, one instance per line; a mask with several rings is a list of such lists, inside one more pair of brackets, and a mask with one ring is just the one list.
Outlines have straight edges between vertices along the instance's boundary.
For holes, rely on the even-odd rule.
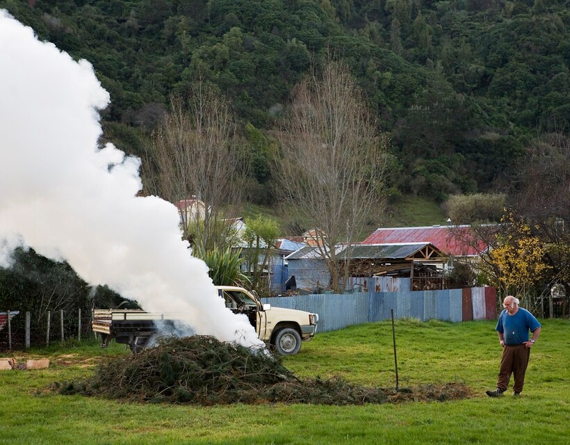
[[[216,286],[218,294],[225,300],[226,307],[236,314],[245,314],[259,336],[280,355],[299,352],[301,341],[308,341],[315,335],[318,314],[263,305],[257,293],[236,286]],[[154,343],[158,334],[156,321],[171,323],[170,314],[152,314],[142,310],[95,309],[92,328],[101,334],[101,346],[115,339],[126,343],[136,353],[147,344]]]

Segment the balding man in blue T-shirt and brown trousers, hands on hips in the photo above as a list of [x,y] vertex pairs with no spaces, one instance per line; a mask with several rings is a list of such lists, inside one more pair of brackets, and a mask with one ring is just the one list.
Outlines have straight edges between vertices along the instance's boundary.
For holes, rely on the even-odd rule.
[[[502,396],[507,391],[511,374],[514,376],[514,396],[520,396],[525,382],[526,367],[530,358],[530,348],[538,340],[542,325],[526,309],[519,307],[519,300],[507,296],[503,301],[505,310],[500,313],[495,330],[498,332],[503,355],[500,357],[500,368],[497,389],[486,391],[489,397]],[[528,332],[532,332],[529,340]]]

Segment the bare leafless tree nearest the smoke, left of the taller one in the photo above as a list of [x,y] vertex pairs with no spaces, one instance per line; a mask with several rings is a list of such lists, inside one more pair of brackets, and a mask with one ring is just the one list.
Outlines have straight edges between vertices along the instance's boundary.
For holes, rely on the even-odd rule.
[[184,237],[202,252],[224,248],[241,209],[247,171],[234,114],[227,99],[202,83],[190,92],[188,104],[174,96],[170,105],[149,143],[147,165],[154,171],[145,171],[145,190],[173,204],[201,200],[203,207],[181,212]]

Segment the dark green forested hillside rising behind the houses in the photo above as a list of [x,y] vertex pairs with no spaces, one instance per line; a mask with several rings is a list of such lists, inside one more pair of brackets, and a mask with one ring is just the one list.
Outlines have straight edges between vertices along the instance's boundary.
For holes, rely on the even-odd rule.
[[[389,186],[444,200],[489,191],[531,138],[568,131],[564,0],[0,0],[42,40],[95,67],[105,137],[128,153],[197,79],[238,113],[254,202],[270,204],[266,135],[328,52],[391,136]],[[38,73],[41,76],[42,73]]]

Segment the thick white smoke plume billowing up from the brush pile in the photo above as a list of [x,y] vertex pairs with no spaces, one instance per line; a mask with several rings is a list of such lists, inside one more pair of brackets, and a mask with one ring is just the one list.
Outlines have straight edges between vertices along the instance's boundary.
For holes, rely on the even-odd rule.
[[149,312],[184,316],[197,334],[261,346],[190,256],[177,209],[136,197],[140,161],[97,147],[109,100],[90,63],[0,10],[0,266],[29,246]]

